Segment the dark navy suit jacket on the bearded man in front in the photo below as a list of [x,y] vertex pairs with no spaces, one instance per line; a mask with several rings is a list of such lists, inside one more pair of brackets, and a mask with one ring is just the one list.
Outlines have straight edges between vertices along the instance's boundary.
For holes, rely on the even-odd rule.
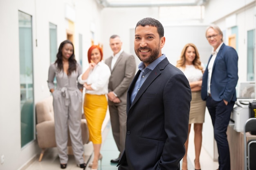
[[165,58],[131,103],[130,95],[139,73],[140,70],[128,89],[126,146],[119,165],[127,162],[129,170],[177,170],[188,135],[189,82]]

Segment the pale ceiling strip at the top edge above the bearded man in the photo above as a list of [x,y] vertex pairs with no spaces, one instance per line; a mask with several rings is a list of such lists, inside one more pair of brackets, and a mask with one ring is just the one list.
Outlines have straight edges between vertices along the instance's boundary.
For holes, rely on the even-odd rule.
[[96,0],[103,7],[200,6],[209,0]]

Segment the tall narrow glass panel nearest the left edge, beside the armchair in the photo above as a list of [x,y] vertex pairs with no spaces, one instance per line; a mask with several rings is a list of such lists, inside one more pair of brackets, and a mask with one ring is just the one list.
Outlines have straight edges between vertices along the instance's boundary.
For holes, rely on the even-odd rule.
[[19,15],[21,147],[34,140],[32,16]]

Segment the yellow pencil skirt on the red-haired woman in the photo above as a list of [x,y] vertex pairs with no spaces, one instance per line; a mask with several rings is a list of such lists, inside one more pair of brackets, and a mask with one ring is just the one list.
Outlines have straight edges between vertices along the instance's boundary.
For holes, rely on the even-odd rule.
[[101,126],[105,119],[108,101],[105,95],[85,94],[83,111],[89,129],[89,140],[101,144]]

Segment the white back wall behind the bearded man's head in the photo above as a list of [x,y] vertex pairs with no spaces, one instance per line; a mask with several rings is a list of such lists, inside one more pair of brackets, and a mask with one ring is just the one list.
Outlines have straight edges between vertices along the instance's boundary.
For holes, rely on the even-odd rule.
[[[137,22],[144,17],[153,17],[161,21],[159,18],[159,8],[105,8],[101,12],[102,16],[102,42],[103,42],[103,52],[105,58],[108,58],[111,54],[111,48],[109,46],[109,38],[113,34],[117,34],[121,37],[123,42],[123,48],[126,52],[129,52],[135,56],[136,63],[140,61],[134,52],[134,30]],[[206,28],[205,24],[181,24],[176,22],[175,25],[171,22],[166,22],[166,18],[163,18],[164,26],[164,36],[166,37],[166,44],[162,49],[162,52],[166,54],[168,60],[173,65],[176,64],[177,59],[180,57],[182,48],[187,43],[198,44],[200,49],[200,54],[202,54],[202,61],[207,63],[211,46],[207,44],[207,40],[204,34],[197,35],[196,33],[201,33]],[[201,43],[201,44],[200,44]]]

